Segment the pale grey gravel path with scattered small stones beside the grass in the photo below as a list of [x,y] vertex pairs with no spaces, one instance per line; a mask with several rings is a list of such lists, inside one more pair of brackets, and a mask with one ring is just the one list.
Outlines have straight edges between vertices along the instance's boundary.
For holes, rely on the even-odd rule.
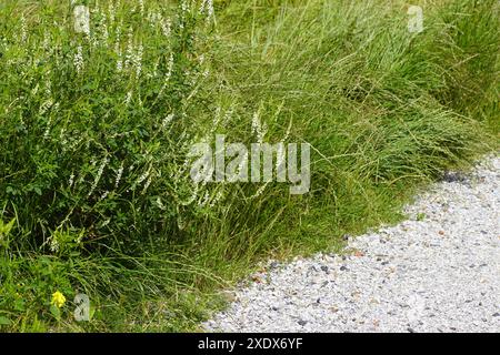
[[[449,173],[348,256],[271,264],[209,332],[500,332],[500,158]],[[423,217],[423,213],[426,216]]]

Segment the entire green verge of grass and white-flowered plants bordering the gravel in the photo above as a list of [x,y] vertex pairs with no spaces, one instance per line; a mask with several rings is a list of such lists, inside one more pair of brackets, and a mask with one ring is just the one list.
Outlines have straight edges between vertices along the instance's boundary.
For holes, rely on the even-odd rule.
[[[498,149],[498,1],[428,3],[421,33],[406,9],[3,1],[1,329],[196,329],[259,260],[394,222],[421,183]],[[253,142],[256,118],[271,143],[311,144],[308,194],[191,181],[191,144]]]

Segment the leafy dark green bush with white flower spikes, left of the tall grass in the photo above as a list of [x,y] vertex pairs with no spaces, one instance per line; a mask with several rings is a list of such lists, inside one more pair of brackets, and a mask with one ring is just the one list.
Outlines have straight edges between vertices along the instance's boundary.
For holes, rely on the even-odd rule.
[[207,100],[210,19],[109,4],[93,8],[90,36],[73,31],[68,4],[2,9],[0,201],[29,231],[21,248],[133,253],[196,214],[180,173]]

